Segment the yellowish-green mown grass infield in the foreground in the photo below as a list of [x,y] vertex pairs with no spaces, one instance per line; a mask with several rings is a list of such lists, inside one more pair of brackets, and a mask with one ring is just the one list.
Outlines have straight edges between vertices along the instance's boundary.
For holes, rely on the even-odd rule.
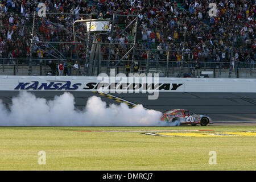
[[[255,170],[256,137],[158,137],[77,130],[256,131],[256,126],[0,127],[0,170]],[[46,165],[38,152],[46,152]],[[217,152],[210,165],[209,151]]]

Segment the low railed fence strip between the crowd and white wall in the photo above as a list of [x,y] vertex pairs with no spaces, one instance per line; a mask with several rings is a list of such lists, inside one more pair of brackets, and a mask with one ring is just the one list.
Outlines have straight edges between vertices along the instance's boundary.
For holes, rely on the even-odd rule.
[[[75,63],[77,59],[71,60],[71,63]],[[81,70],[87,70],[88,67],[84,66],[85,60],[78,60]],[[29,67],[29,59],[0,59],[0,74],[1,75],[27,75]],[[32,59],[32,75],[58,75],[57,65],[59,59]],[[138,65],[137,69],[132,67],[130,60],[122,60],[121,63],[117,64],[119,60],[102,60],[102,72],[107,73],[108,69],[115,69],[116,74],[127,73],[126,65],[130,65],[129,73],[159,73],[160,77],[241,77],[240,73],[247,73],[243,77],[256,77],[256,65],[255,63],[235,63],[229,65],[228,62],[200,62],[200,67],[196,68],[195,61],[176,61],[170,59],[159,60],[155,59],[144,59],[135,60]],[[53,65],[53,66],[52,66]],[[231,68],[231,69],[230,69]],[[68,69],[72,71],[68,74]],[[55,70],[55,71],[53,71]],[[207,72],[205,72],[207,71]],[[54,73],[53,73],[54,72]],[[64,75],[74,75],[75,69],[70,67],[68,64],[64,64]],[[205,74],[203,74],[205,72]],[[94,76],[97,76],[95,72]],[[79,73],[78,75],[82,75]]]

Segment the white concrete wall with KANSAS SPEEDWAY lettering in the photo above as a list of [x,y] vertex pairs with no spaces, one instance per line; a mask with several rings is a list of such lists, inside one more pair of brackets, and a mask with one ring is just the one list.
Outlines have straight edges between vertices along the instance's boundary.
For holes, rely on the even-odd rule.
[[[121,81],[120,81],[121,79]],[[144,80],[143,80],[144,79]],[[103,81],[102,81],[103,80]],[[159,92],[249,92],[256,93],[256,79],[245,78],[165,78],[165,77],[84,77],[84,76],[0,76],[0,90],[106,91],[98,90],[100,82],[159,84]],[[95,83],[95,84],[93,84]],[[44,86],[43,86],[43,85]],[[106,86],[109,87],[109,85]],[[119,87],[117,84],[117,88]],[[18,86],[18,87],[17,87]],[[84,89],[89,88],[91,89]],[[16,88],[16,89],[15,89]],[[106,87],[105,87],[106,88]],[[141,86],[143,88],[143,86]],[[109,89],[107,89],[109,90]],[[114,89],[110,89],[114,91]],[[116,89],[122,92],[127,89]],[[135,89],[142,92],[142,89]],[[131,90],[130,90],[131,92]]]

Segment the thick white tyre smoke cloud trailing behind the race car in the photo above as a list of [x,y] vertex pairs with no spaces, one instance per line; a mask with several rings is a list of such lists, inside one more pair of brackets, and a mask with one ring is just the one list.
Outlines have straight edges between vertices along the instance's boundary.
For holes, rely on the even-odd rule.
[[142,105],[107,107],[96,96],[88,99],[83,110],[77,110],[75,98],[68,92],[50,101],[20,92],[8,110],[0,100],[0,126],[164,126],[161,116],[160,111],[145,110]]

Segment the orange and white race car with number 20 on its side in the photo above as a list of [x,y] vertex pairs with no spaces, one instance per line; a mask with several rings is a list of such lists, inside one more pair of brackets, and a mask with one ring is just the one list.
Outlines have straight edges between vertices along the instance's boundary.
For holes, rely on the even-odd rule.
[[180,124],[191,124],[192,126],[200,124],[201,126],[207,126],[209,123],[213,123],[212,119],[206,115],[194,114],[185,109],[172,109],[163,112],[161,121],[166,122],[180,122]]

